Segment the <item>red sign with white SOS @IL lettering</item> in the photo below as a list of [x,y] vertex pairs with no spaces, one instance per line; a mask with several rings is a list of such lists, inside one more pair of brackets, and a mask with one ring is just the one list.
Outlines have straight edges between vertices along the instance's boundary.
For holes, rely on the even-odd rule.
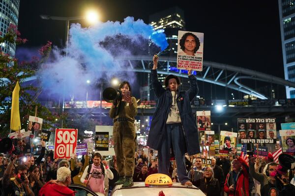
[[67,159],[76,154],[78,129],[56,129],[54,158]]

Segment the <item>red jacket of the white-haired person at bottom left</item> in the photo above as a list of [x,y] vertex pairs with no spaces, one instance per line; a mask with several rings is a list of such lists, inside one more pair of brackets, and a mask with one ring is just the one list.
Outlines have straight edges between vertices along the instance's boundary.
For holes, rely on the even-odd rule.
[[47,182],[39,191],[39,196],[75,196],[76,191],[68,187]]

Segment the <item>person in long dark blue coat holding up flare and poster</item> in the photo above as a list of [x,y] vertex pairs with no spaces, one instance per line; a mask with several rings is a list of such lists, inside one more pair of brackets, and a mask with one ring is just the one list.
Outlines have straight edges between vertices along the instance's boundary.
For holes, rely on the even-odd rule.
[[184,154],[200,153],[197,123],[190,105],[199,91],[197,79],[191,74],[192,70],[189,70],[190,88],[187,91],[179,91],[179,78],[170,74],[164,81],[166,89],[163,88],[157,75],[158,59],[158,56],[154,55],[151,70],[151,81],[158,105],[150,124],[147,146],[158,150],[158,172],[167,175],[170,152],[173,149],[179,182],[192,186],[185,169]]

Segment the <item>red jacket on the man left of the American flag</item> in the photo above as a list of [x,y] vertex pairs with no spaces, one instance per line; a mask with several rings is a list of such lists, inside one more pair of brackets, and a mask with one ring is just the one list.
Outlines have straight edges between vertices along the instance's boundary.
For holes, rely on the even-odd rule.
[[232,171],[226,176],[224,191],[228,194],[228,196],[249,196],[249,166],[241,157],[239,157],[237,160],[242,164],[242,170],[238,173],[236,180],[236,190],[229,190],[229,187],[233,184]]

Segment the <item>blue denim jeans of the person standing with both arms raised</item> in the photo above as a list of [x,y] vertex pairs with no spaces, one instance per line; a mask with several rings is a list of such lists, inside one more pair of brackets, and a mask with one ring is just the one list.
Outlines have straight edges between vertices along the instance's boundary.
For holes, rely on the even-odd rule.
[[[163,138],[162,147],[158,150],[158,172],[169,175],[170,150],[173,148],[177,163],[177,175],[179,182],[185,183],[189,180],[185,169],[185,138],[181,123],[166,124],[166,137]],[[198,142],[198,141],[197,141]]]

